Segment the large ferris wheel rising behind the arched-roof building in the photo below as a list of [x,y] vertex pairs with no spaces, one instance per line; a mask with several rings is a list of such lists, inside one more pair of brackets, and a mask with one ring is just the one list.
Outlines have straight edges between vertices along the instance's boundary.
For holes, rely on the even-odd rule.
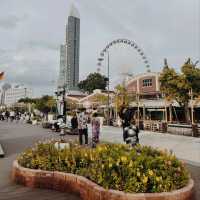
[[102,65],[102,61],[105,60],[105,55],[107,54],[108,55],[108,70],[109,70],[109,49],[115,45],[118,45],[118,44],[125,44],[127,46],[130,46],[132,47],[137,53],[138,55],[141,57],[144,65],[145,65],[145,68],[146,68],[146,71],[147,72],[150,72],[151,69],[150,69],[150,64],[149,64],[149,61],[147,59],[147,56],[145,55],[144,51],[142,50],[142,48],[140,48],[136,42],[132,41],[132,40],[128,40],[128,39],[117,39],[117,40],[113,40],[112,42],[110,42],[100,53],[100,57],[98,58],[98,69],[97,71],[99,72],[100,71],[100,66]]

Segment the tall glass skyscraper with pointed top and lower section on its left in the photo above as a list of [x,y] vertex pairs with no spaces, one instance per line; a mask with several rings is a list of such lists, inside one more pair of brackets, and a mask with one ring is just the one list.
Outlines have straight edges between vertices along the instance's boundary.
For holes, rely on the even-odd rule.
[[76,90],[79,82],[80,15],[71,6],[66,26],[66,44],[60,48],[60,74],[58,86]]

